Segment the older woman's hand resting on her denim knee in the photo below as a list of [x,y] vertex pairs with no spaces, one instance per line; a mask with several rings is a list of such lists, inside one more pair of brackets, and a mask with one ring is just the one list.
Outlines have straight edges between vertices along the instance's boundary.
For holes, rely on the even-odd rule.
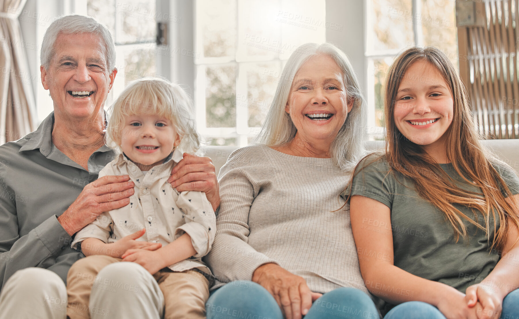
[[301,319],[312,306],[312,301],[322,296],[310,291],[303,277],[274,263],[256,268],[252,281],[262,285],[274,296],[286,319]]

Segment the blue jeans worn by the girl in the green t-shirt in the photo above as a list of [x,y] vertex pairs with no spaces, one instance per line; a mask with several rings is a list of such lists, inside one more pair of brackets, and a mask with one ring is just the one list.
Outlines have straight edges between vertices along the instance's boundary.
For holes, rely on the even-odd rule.
[[[429,303],[408,301],[391,309],[384,319],[445,319],[445,316]],[[504,297],[500,319],[519,319],[519,289]]]

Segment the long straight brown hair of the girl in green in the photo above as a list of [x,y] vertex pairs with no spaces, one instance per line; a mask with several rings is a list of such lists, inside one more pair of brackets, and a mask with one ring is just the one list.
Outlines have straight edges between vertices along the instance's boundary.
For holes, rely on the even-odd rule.
[[[445,132],[446,154],[456,172],[468,183],[481,188],[483,194],[457,187],[434,158],[428,155],[421,145],[407,140],[395,125],[395,97],[405,72],[416,61],[426,61],[433,65],[442,74],[452,92],[454,114],[453,121]],[[501,161],[487,152],[479,141],[480,136],[474,129],[467,92],[453,64],[435,47],[406,49],[389,69],[384,105],[386,159],[390,166],[390,174],[398,173],[411,179],[420,197],[444,212],[446,220],[454,228],[456,241],[460,236],[467,236],[467,227],[463,224],[465,219],[484,230],[489,240],[490,237],[494,238],[492,248],[502,248],[507,239],[509,223],[512,222],[519,228],[517,201],[491,164]],[[503,196],[502,191],[506,196]],[[511,203],[507,202],[505,197],[510,198]],[[455,204],[471,208],[475,220],[463,214],[454,206]],[[483,223],[478,222],[479,216],[483,217]],[[490,216],[493,217],[493,234],[489,231]],[[500,227],[496,231],[497,221],[500,221]]]

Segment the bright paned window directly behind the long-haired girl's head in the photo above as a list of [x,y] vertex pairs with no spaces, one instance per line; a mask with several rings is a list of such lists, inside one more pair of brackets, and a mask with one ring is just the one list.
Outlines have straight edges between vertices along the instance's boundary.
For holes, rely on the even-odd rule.
[[383,87],[389,66],[402,49],[439,46],[457,67],[458,41],[454,0],[367,0],[366,47],[368,127],[381,138]]

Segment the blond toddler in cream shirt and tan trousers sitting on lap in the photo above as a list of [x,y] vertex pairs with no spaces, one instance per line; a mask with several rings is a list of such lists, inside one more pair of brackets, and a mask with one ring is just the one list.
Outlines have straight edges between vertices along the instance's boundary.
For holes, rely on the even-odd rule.
[[189,110],[182,88],[158,78],[133,82],[115,101],[106,140],[120,154],[99,177],[129,175],[134,193],[129,205],[103,212],[75,235],[72,247],[80,244],[88,257],[67,276],[71,318],[90,317],[97,273],[119,261],[139,263],[154,275],[165,300],[163,317],[205,318],[211,271],[201,257],[211,249],[215,215],[204,193],[179,193],[167,182],[183,152],[200,145]]

